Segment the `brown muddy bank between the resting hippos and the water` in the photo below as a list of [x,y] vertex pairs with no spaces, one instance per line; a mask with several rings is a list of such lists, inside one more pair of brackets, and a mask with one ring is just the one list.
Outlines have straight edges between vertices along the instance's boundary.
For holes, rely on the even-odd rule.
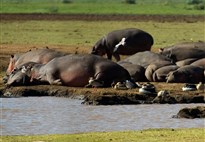
[[[176,84],[155,83],[157,91],[170,88],[169,95],[158,97],[157,94],[139,94],[139,89],[115,90],[113,88],[76,88],[66,86],[36,85],[6,88],[0,87],[1,97],[56,96],[82,99],[87,105],[122,105],[122,104],[178,104],[205,103],[205,94],[200,91],[183,92],[173,90]],[[180,84],[182,85],[182,84]],[[180,86],[179,85],[179,86]]]

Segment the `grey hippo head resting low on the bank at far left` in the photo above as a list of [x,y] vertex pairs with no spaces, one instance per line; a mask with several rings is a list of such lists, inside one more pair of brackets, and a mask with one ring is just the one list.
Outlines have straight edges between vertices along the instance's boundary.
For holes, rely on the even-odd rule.
[[[24,68],[25,69],[25,68]],[[28,84],[30,78],[26,74],[25,70],[14,70],[9,76],[6,85],[7,86],[20,86]]]

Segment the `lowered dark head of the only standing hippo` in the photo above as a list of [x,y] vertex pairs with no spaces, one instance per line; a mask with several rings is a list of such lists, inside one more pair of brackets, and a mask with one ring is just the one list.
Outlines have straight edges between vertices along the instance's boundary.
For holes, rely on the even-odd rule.
[[99,40],[94,47],[92,48],[91,54],[94,55],[99,55],[99,56],[103,56],[105,55],[107,52],[107,47],[105,45],[105,38],[102,38],[101,40]]

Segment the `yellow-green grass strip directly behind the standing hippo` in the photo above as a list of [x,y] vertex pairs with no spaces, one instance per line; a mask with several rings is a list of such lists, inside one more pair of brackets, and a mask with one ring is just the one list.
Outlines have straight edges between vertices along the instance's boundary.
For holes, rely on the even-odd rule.
[[10,45],[91,47],[106,33],[127,27],[143,29],[153,35],[154,48],[178,42],[205,40],[204,22],[2,21],[0,27],[0,44]]

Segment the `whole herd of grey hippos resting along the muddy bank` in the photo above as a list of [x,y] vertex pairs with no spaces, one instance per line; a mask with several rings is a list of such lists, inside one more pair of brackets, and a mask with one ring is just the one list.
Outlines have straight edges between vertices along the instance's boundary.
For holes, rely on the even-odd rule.
[[[111,87],[138,81],[167,83],[205,82],[205,42],[189,42],[152,52],[153,37],[140,29],[112,31],[92,47],[91,54],[65,54],[35,49],[10,58],[4,81],[7,86],[53,84],[90,86],[90,79]],[[102,57],[107,54],[107,58]],[[120,55],[130,55],[120,60]],[[116,62],[112,61],[112,56]]]

